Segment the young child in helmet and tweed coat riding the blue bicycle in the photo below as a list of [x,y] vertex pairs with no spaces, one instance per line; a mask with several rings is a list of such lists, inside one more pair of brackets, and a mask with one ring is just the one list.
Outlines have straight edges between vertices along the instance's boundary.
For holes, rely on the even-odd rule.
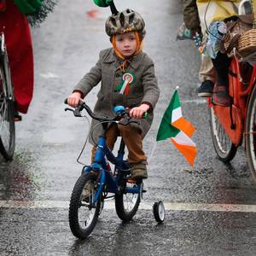
[[[102,81],[94,113],[111,117],[114,115],[113,107],[123,105],[131,109],[130,116],[137,121],[137,124],[127,126],[110,125],[107,131],[108,148],[113,150],[117,137],[123,137],[128,148],[131,178],[147,178],[143,137],[152,124],[153,109],[160,90],[154,75],[154,62],[142,51],[145,22],[137,12],[125,9],[109,16],[105,29],[113,47],[100,52],[96,66],[75,86],[73,94],[68,97],[68,104],[77,107],[80,99]],[[148,119],[142,119],[144,112],[148,112]],[[91,128],[96,123],[92,120]],[[94,134],[97,136],[99,133],[96,131]],[[92,155],[95,150],[96,145]]]

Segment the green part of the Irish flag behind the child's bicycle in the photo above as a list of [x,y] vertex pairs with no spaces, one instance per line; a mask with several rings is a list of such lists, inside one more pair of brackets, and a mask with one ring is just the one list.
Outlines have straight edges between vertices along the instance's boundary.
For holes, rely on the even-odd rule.
[[156,141],[162,141],[166,140],[166,138],[169,137],[176,137],[177,134],[179,133],[179,130],[171,125],[172,122],[172,110],[175,108],[180,107],[180,102],[179,98],[177,95],[177,90],[174,91],[171,102],[166,109],[166,112],[164,113],[164,116],[161,120],[157,136],[156,136]]

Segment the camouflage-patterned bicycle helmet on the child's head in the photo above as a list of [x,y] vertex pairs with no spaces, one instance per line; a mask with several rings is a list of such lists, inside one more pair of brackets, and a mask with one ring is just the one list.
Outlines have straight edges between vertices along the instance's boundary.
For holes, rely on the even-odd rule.
[[105,29],[109,37],[117,33],[123,34],[137,31],[143,39],[146,34],[142,15],[132,9],[125,9],[117,15],[109,16],[108,20],[106,20]]

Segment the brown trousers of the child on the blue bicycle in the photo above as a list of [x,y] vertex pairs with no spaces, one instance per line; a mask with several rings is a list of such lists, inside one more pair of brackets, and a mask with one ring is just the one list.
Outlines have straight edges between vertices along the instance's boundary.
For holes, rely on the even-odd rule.
[[[107,145],[110,150],[113,150],[114,143],[118,136],[123,137],[125,145],[128,149],[128,162],[130,164],[141,163],[147,160],[143,152],[143,139],[140,131],[132,128],[130,125],[113,124],[108,128],[106,133]],[[96,154],[96,147],[91,150],[91,162],[93,162]]]

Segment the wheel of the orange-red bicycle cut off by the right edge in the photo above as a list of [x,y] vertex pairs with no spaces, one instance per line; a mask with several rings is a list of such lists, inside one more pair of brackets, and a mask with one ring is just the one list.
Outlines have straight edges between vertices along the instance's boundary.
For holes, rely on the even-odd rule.
[[[255,85],[255,84],[254,84]],[[247,107],[246,119],[246,155],[247,165],[253,176],[253,181],[256,183],[256,87],[254,86],[253,93],[250,96],[250,101]]]

